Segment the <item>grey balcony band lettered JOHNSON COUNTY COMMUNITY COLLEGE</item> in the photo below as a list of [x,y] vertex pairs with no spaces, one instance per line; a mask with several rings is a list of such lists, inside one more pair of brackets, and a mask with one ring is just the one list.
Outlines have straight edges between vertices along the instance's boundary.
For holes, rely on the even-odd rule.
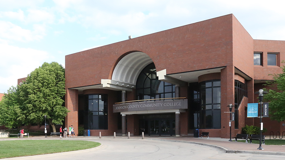
[[187,109],[188,101],[185,100],[157,100],[122,103],[113,105],[113,113],[129,112],[129,111],[149,111],[149,110],[164,110],[164,109]]

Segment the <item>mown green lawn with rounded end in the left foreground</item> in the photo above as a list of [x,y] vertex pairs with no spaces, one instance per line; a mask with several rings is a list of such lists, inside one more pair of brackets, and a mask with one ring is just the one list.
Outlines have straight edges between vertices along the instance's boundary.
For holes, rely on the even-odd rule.
[[83,140],[9,140],[0,141],[0,159],[94,148],[97,142]]

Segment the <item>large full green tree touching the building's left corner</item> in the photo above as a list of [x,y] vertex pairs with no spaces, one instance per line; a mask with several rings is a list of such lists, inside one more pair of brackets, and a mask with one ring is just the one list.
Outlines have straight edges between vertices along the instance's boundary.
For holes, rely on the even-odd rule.
[[62,106],[65,95],[64,73],[62,65],[45,62],[28,75],[20,86],[19,96],[23,101],[25,122],[41,123],[46,115],[53,132],[56,132],[56,124],[63,124],[69,112]]

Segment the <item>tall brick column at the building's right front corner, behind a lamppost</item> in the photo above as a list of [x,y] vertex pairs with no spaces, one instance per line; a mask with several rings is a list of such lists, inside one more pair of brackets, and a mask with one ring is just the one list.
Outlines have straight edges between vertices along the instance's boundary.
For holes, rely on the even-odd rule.
[[[229,137],[229,107],[235,104],[235,67],[233,65],[221,69],[221,138]],[[233,108],[234,111],[234,108]],[[232,137],[235,134],[235,123],[232,123]]]

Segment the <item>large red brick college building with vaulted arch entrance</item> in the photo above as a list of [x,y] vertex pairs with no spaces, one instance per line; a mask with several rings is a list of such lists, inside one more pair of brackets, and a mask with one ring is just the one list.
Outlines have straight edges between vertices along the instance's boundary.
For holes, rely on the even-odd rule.
[[[235,105],[232,135],[259,126],[247,103],[257,103],[254,92],[282,72],[282,60],[285,41],[252,39],[232,14],[66,55],[65,126],[102,136],[199,128],[228,138],[227,106]],[[263,121],[268,133],[285,131]]]

